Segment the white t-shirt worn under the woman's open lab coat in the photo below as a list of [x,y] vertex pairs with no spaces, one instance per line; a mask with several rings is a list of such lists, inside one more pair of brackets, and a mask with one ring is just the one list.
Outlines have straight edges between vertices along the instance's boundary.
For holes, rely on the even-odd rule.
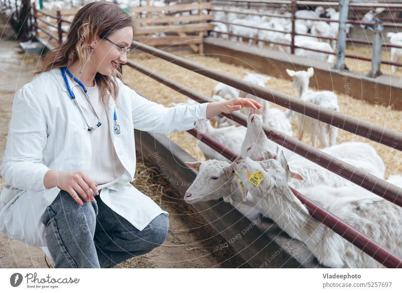
[[[72,81],[72,79],[70,79]],[[75,82],[73,82],[76,84]],[[90,131],[91,145],[92,145],[92,157],[91,167],[87,174],[90,179],[96,184],[104,184],[115,180],[124,173],[124,167],[120,162],[115,148],[112,144],[112,137],[109,132],[108,116],[106,115],[106,108],[100,101],[99,88],[97,85],[94,87],[86,87],[86,91],[89,100],[92,103],[92,107],[99,117],[100,127]],[[93,127],[97,123],[97,118],[93,114],[84,93],[79,89],[82,98],[85,100],[87,109],[89,109],[89,117],[85,115],[86,121],[89,126]],[[77,110],[78,111],[78,110]],[[85,113],[86,114],[86,113]]]

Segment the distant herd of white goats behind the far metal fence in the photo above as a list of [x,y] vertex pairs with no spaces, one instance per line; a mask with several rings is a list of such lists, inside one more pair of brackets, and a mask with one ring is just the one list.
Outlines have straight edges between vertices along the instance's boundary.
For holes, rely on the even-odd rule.
[[[375,17],[384,11],[383,8],[376,8],[370,10],[366,13],[360,21],[362,23],[373,22]],[[278,14],[286,16],[286,18],[280,17],[264,17],[263,14]],[[250,12],[250,15],[243,15],[242,18],[239,17],[240,14],[235,12],[214,12],[215,20],[222,21],[230,24],[225,24],[222,22],[215,23],[215,31],[212,32],[211,36],[217,37],[218,34],[223,38],[229,38],[229,34],[234,34],[242,37],[231,36],[234,41],[243,42],[243,38],[248,38],[249,44],[253,42],[252,38],[258,38],[258,46],[263,47],[264,41],[269,43],[270,48],[277,47],[279,50],[290,53],[290,43],[291,43],[291,13],[288,10],[281,9],[265,9],[261,8],[256,12]],[[307,49],[313,49],[316,51],[305,50],[302,48],[296,48],[294,54],[297,56],[303,56],[312,59],[318,59],[321,61],[328,62],[332,64],[335,62],[335,54],[328,54],[325,52],[336,52],[339,24],[338,22],[327,23],[321,21],[320,18],[328,18],[332,21],[339,21],[339,12],[333,8],[324,9],[319,6],[314,11],[310,10],[298,10],[295,13],[296,18],[309,18],[317,19],[312,20],[302,20],[296,19],[295,21],[295,33],[294,44],[298,47],[303,47]],[[248,27],[244,27],[248,26]],[[351,24],[346,24],[346,32],[353,27]],[[372,27],[361,25],[360,27],[364,29],[373,30]],[[276,30],[276,31],[268,31]],[[217,33],[218,32],[218,33]],[[302,34],[302,35],[297,35]],[[310,34],[310,36],[305,36],[304,34]],[[392,45],[402,46],[402,33],[388,32],[387,38],[389,38],[389,43]],[[328,39],[330,38],[330,39]],[[392,47],[390,49],[390,61],[397,62],[398,59],[402,57],[402,49]],[[396,66],[391,65],[391,71],[396,71]]]

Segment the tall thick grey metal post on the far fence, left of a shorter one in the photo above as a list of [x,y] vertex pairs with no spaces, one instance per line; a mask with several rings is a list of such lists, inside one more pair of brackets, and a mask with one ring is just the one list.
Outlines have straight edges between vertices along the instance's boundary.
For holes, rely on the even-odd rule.
[[346,23],[348,21],[349,14],[349,0],[339,0],[339,30],[338,30],[338,42],[337,42],[337,60],[335,69],[345,70],[347,66],[345,64],[345,49],[346,49]]

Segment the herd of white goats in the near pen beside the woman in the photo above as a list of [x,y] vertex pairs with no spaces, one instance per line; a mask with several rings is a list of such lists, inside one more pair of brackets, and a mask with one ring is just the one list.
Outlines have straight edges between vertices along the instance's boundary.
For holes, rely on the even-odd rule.
[[[333,92],[309,90],[313,68],[307,71],[287,70],[287,73],[293,78],[293,85],[299,90],[300,98],[339,111],[337,96]],[[246,72],[244,79],[262,85],[269,77]],[[218,84],[212,100],[247,96],[236,91]],[[309,131],[315,145],[317,132],[323,152],[383,179],[385,166],[376,151],[363,142],[336,144],[337,128],[302,114],[271,109],[269,102],[262,99],[258,102],[263,107],[260,113],[255,112],[258,110],[251,111],[247,117],[247,128],[227,125],[234,123],[227,118],[219,118],[219,128],[213,127],[208,120],[198,123],[200,131],[241,157],[230,162],[198,140],[198,146],[207,160],[186,163],[198,173],[185,193],[185,201],[194,204],[223,198],[235,207],[247,204],[275,221],[290,237],[304,242],[325,266],[383,267],[311,217],[306,206],[293,195],[289,188],[292,187],[396,255],[402,255],[401,207],[274,143],[267,138],[262,125],[266,123],[291,136],[289,119],[297,115],[299,138],[303,131]],[[328,132],[330,146],[326,137]],[[400,175],[392,175],[387,181],[402,187]]]

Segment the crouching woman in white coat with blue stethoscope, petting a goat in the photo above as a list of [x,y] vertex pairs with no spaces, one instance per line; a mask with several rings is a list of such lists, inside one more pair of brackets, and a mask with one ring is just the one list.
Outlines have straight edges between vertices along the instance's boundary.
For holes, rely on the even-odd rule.
[[[194,127],[250,99],[165,108],[125,86],[117,70],[133,40],[117,5],[80,9],[59,48],[15,95],[1,165],[1,231],[47,247],[55,267],[111,267],[162,244],[168,213],[130,182],[133,129]],[[95,196],[99,195],[100,196]]]

